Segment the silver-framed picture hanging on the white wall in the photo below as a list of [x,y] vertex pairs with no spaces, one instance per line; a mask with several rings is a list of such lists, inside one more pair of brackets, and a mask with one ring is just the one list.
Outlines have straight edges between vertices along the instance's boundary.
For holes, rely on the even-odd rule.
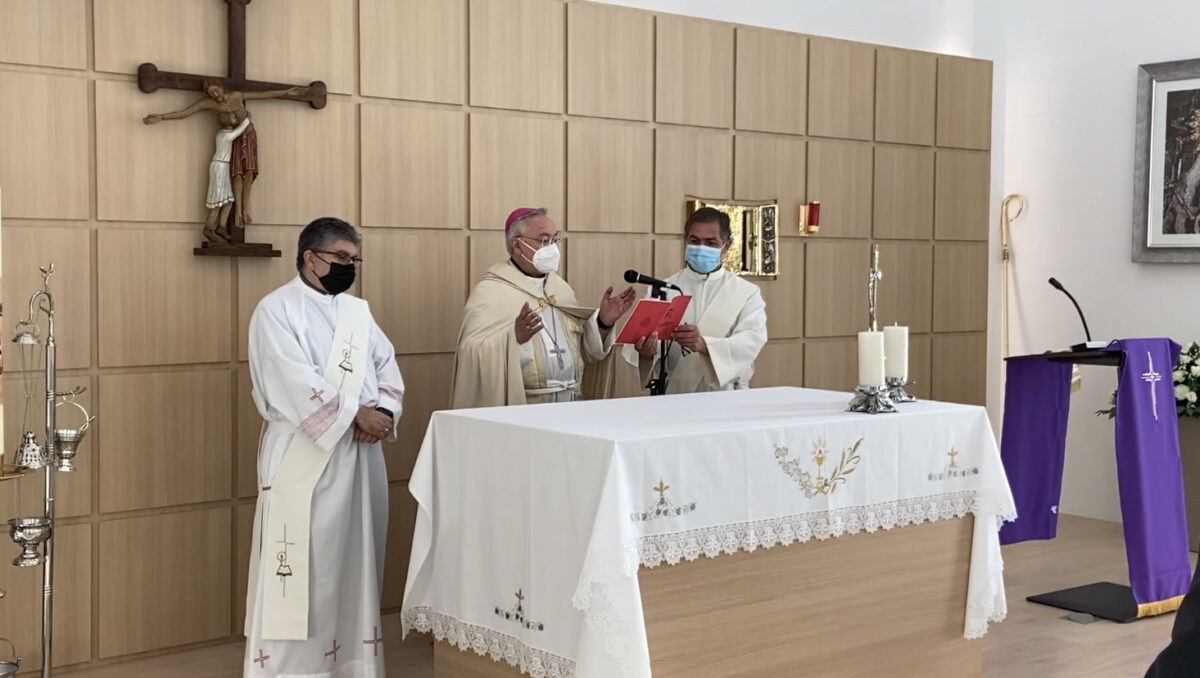
[[1200,262],[1200,59],[1138,67],[1133,260]]

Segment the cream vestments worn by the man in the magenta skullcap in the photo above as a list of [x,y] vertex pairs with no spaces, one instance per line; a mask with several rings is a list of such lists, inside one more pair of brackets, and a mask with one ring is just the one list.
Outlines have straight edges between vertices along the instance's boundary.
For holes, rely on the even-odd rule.
[[[518,344],[514,324],[526,304],[545,329]],[[598,311],[580,306],[557,274],[530,277],[511,262],[493,265],[463,311],[450,407],[605,397],[616,331],[602,336],[596,320]]]

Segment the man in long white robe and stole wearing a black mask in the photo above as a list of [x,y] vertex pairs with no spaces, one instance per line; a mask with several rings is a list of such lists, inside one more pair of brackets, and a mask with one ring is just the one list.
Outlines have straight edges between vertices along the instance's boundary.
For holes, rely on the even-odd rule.
[[266,421],[246,594],[244,676],[384,676],[379,594],[388,535],[380,442],[404,383],[354,284],[361,238],[319,218],[299,275],[250,320],[254,404]]

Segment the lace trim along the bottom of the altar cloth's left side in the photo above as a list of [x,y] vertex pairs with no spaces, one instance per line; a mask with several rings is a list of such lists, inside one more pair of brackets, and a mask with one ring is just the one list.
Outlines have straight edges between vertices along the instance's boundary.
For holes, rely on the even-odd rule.
[[434,640],[450,643],[462,652],[474,650],[493,661],[506,661],[533,678],[575,678],[575,662],[532,648],[508,634],[460,622],[426,606],[404,611],[404,626],[422,634],[432,632]]

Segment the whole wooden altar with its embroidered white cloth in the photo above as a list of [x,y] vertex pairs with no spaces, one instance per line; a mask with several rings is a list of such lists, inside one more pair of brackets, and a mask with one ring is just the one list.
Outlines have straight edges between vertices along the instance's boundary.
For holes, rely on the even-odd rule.
[[848,400],[436,413],[406,632],[439,677],[980,674],[1014,517],[986,413]]

